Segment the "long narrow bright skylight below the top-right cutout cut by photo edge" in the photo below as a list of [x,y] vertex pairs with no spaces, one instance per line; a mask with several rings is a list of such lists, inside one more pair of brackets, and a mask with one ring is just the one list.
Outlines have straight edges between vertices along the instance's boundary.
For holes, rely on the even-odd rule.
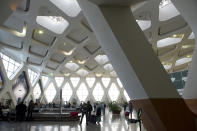
[[162,48],[169,45],[174,45],[182,41],[182,38],[165,38],[157,41],[157,47]]

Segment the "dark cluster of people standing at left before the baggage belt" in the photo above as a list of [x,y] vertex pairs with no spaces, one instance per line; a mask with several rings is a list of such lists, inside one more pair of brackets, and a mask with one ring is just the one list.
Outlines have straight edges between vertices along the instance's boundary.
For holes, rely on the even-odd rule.
[[[29,102],[29,105],[26,106],[24,102],[19,102],[16,105],[16,121],[32,120],[32,112],[35,108],[35,103],[33,100]],[[27,115],[26,115],[27,112]]]

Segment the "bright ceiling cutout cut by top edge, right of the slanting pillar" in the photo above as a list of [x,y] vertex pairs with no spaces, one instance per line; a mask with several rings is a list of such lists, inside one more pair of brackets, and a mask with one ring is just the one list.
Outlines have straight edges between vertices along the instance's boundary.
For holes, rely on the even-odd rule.
[[166,21],[177,15],[180,15],[180,13],[173,3],[170,0],[162,0],[159,6],[159,20]]

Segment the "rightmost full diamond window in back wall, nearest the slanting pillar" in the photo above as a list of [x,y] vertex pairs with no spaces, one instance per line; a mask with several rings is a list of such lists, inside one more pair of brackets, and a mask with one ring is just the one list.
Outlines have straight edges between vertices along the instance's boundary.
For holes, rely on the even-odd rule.
[[119,92],[118,88],[116,87],[115,83],[111,84],[108,94],[109,94],[109,97],[112,101],[116,101],[118,99],[120,92]]

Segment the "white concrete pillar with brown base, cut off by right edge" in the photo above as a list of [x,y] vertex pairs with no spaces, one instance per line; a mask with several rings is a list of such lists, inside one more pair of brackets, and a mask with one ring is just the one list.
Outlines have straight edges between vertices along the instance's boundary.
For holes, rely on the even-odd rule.
[[[196,0],[172,0],[181,15],[187,21],[195,36],[197,36],[197,1]],[[197,37],[195,37],[197,43]],[[189,75],[183,93],[183,98],[189,108],[197,114],[197,46],[195,45]]]

